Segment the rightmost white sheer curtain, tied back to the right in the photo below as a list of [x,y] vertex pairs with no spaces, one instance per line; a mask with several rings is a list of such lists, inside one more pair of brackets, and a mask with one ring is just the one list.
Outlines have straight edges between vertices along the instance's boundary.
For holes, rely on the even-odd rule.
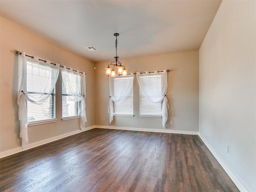
[[[152,71],[152,72],[137,72],[136,73],[138,83],[140,86],[140,90],[146,96],[148,100],[153,103],[162,102],[162,111],[161,116],[163,118],[162,125],[165,127],[166,121],[168,120],[168,109],[170,105],[168,103],[166,92],[167,92],[167,70],[162,71]],[[157,89],[154,87],[154,84],[148,83],[148,78],[152,77],[152,79],[161,77],[161,92],[154,92],[152,90]],[[146,77],[146,78],[145,78]]]

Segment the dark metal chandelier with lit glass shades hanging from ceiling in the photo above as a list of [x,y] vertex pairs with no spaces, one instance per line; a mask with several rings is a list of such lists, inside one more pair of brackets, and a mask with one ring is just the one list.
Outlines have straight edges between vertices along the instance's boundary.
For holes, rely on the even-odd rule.
[[[122,74],[122,76],[127,75],[127,69],[118,61],[118,56],[117,56],[117,37],[119,36],[118,33],[115,33],[114,36],[116,37],[116,56],[114,57],[115,61],[112,61],[111,64],[108,64],[108,67],[106,69],[106,75],[110,75],[111,77],[116,76],[116,71],[114,68],[116,67],[117,73]],[[114,64],[113,64],[114,63]],[[110,67],[112,66],[112,68]]]

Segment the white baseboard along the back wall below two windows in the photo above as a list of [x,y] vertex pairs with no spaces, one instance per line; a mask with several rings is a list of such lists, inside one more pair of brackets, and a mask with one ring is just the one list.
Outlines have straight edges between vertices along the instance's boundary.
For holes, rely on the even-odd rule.
[[180,130],[170,130],[170,129],[147,129],[147,128],[134,128],[134,127],[102,126],[102,125],[96,125],[95,128],[198,135],[198,132],[196,131],[180,131]]

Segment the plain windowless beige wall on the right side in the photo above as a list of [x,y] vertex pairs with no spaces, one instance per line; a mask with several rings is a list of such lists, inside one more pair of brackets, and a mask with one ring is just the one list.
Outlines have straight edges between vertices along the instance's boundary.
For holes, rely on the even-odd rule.
[[199,132],[250,191],[256,191],[255,16],[256,1],[223,0],[199,50]]

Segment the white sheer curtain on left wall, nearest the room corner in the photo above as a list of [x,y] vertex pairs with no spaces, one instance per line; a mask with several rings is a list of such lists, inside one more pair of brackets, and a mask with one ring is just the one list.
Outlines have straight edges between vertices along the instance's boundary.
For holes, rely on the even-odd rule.
[[[80,72],[78,70],[73,70],[72,68],[60,69],[62,80],[68,93],[68,98],[74,102],[80,102],[80,129],[85,128],[86,119],[86,82],[85,82],[85,72]],[[81,84],[78,83],[82,82]]]

